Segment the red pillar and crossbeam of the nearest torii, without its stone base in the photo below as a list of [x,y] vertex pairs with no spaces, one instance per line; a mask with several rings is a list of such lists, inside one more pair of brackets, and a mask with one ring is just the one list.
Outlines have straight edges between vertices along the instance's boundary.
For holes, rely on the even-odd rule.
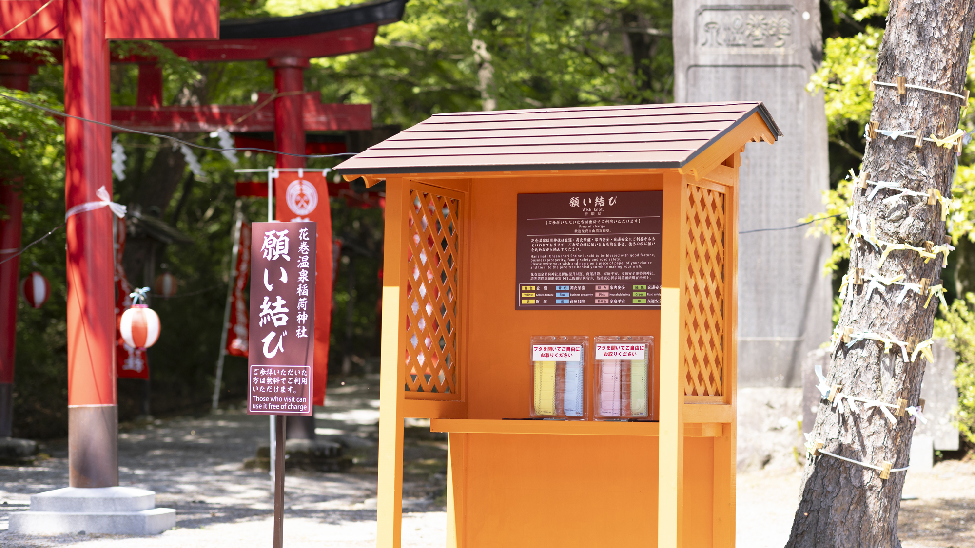
[[[4,39],[63,40],[65,112],[109,123],[108,40],[215,39],[219,2],[0,1],[0,28],[24,20]],[[99,202],[101,186],[111,195],[111,134],[76,118],[65,118],[64,126],[65,209],[70,210]],[[111,213],[100,208],[72,215],[66,233],[69,484],[114,487],[118,411]]]

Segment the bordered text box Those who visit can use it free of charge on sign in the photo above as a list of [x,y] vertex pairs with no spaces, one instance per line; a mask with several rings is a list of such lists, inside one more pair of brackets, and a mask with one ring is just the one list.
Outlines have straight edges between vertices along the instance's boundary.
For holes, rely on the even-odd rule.
[[311,414],[311,366],[251,366],[248,412]]

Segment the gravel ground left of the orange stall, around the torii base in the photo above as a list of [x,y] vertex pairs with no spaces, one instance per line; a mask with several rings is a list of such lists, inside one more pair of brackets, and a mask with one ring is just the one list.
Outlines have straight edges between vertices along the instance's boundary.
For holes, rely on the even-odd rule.
[[[375,382],[330,387],[316,408],[320,438],[355,457],[347,473],[291,471],[285,479],[285,542],[290,547],[375,545],[375,464],[379,419]],[[67,448],[47,444],[50,458],[34,466],[0,466],[0,546],[138,548],[270,545],[273,501],[265,471],[245,469],[258,445],[267,445],[268,419],[224,411],[201,417],[122,425],[119,484],[156,491],[156,505],[176,509],[176,528],[149,537],[106,534],[32,536],[8,532],[10,511],[26,510],[31,493],[67,486]],[[426,432],[423,432],[426,431]],[[404,546],[442,547],[446,441],[408,428]],[[426,435],[423,436],[422,434]],[[422,439],[427,438],[427,439]]]

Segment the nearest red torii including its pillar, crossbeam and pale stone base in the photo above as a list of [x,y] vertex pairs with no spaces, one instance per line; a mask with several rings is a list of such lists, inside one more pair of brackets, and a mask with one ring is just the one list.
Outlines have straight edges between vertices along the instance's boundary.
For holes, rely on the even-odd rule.
[[[0,27],[22,27],[10,39],[64,40],[64,198],[71,208],[112,191],[108,39],[215,38],[215,0],[120,3],[60,0],[41,12],[29,0],[3,2]],[[19,13],[23,12],[23,13]],[[28,20],[34,11],[39,16]],[[26,15],[24,15],[26,14]],[[11,22],[13,21],[13,22]],[[155,508],[155,493],[119,488],[115,387],[114,265],[108,208],[67,218],[68,488],[30,497],[30,511],[10,517],[21,533],[153,534],[176,525],[176,511]]]

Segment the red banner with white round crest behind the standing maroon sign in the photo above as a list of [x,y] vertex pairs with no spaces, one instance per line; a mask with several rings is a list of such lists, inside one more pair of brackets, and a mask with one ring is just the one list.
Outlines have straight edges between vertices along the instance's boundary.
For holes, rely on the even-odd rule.
[[[325,405],[325,384],[329,378],[329,339],[331,331],[332,248],[329,183],[321,172],[280,172],[274,180],[274,217],[288,222],[318,223],[317,256],[321,268],[315,284],[321,290],[314,301],[315,364],[312,398],[316,406]],[[256,273],[256,270],[254,271]],[[308,330],[311,333],[311,330]]]

